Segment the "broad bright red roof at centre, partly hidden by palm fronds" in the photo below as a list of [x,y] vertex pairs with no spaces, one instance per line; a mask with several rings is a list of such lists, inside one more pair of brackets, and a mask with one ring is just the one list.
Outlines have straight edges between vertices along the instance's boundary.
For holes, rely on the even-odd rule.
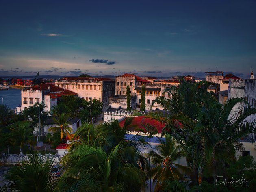
[[[123,121],[120,122],[120,126],[123,127],[124,126],[124,122],[126,119],[124,119]],[[145,132],[145,127],[143,127],[143,124],[150,124],[153,125],[154,127],[156,127],[158,133],[162,133],[163,128],[165,127],[164,123],[161,123],[155,119],[150,119],[150,118],[146,118],[145,116],[137,116],[137,117],[132,117],[132,124],[137,125],[137,127],[132,127],[129,128],[130,131],[137,131],[136,129],[143,129]]]

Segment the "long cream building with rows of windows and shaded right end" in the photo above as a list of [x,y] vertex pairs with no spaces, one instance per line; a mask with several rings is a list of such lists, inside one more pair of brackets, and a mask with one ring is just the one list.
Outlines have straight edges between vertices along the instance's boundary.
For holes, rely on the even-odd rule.
[[108,106],[108,98],[115,95],[115,81],[110,78],[63,78],[56,80],[55,85],[78,93],[79,97],[90,101],[97,99]]

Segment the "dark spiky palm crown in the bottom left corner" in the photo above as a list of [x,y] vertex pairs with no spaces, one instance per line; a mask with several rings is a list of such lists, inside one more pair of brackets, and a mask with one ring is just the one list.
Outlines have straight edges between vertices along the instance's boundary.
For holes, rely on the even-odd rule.
[[6,188],[17,192],[53,192],[58,178],[52,174],[54,159],[43,160],[35,153],[28,160],[11,167],[4,175]]

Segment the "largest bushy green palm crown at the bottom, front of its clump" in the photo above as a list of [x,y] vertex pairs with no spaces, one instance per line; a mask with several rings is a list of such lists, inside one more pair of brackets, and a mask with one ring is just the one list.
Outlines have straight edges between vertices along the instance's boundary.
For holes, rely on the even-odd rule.
[[120,143],[107,154],[99,147],[83,143],[76,146],[63,157],[62,164],[66,171],[58,187],[60,190],[66,188],[67,191],[71,188],[85,190],[88,188],[86,182],[90,181],[90,185],[96,188],[96,191],[145,190],[145,172],[120,158],[123,147]]

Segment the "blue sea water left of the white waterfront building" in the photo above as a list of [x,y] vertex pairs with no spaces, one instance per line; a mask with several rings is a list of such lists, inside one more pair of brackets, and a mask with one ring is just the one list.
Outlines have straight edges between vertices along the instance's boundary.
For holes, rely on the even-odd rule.
[[9,88],[8,90],[0,90],[0,104],[3,103],[11,109],[21,106],[21,89]]

